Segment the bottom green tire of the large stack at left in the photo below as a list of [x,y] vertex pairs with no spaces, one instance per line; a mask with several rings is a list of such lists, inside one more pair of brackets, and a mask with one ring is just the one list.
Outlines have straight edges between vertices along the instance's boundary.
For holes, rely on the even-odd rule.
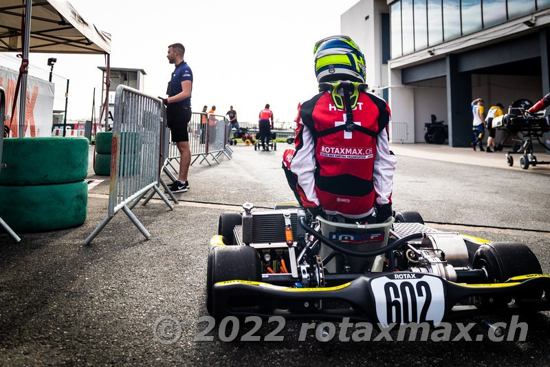
[[0,186],[0,217],[14,231],[21,233],[52,231],[83,224],[87,202],[86,181]]

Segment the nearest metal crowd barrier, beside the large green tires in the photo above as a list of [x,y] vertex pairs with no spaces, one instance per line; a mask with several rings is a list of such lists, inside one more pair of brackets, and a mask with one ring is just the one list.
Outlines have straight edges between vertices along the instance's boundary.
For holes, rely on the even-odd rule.
[[140,229],[144,237],[149,239],[151,234],[137,220],[131,209],[151,189],[166,202],[170,210],[174,209],[157,187],[160,184],[166,191],[170,191],[160,178],[161,147],[166,129],[163,109],[164,105],[159,98],[125,85],[117,87],[111,145],[109,211],[107,217],[86,239],[86,244],[94,240],[120,209]]

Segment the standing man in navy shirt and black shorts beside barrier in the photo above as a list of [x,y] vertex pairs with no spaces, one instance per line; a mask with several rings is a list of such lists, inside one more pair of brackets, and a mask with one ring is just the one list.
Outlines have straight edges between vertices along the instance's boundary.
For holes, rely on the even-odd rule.
[[175,70],[168,86],[168,98],[164,100],[168,127],[172,133],[172,141],[179,150],[179,175],[177,180],[168,187],[173,193],[186,192],[189,189],[187,174],[191,164],[189,134],[187,124],[191,119],[191,90],[193,73],[184,61],[185,48],[181,43],[168,46],[168,62],[175,65]]

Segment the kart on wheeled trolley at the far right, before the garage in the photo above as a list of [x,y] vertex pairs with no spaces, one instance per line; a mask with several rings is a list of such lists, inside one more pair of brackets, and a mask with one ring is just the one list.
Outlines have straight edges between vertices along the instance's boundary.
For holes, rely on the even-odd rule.
[[[544,117],[545,110],[533,115],[529,114],[527,109],[532,106],[533,103],[528,99],[519,99],[508,107],[507,114],[493,119],[493,128],[504,129],[507,132],[506,138],[498,144],[499,147],[502,147],[503,142],[510,136],[514,138],[512,149],[506,153],[506,160],[510,167],[514,165],[512,154],[521,154],[520,167],[522,169],[528,169],[529,165],[550,164],[550,161],[537,160],[533,154],[533,139],[550,151],[550,147],[540,140],[545,133],[550,132],[550,121],[548,117]],[[520,134],[521,138],[519,138]]]

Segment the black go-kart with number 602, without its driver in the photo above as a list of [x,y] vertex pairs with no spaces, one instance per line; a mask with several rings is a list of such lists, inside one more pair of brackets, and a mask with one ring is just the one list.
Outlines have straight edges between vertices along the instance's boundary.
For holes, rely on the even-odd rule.
[[223,213],[210,240],[207,309],[216,319],[437,325],[550,309],[550,276],[524,244],[441,232],[415,211],[349,224],[293,205],[243,209]]

